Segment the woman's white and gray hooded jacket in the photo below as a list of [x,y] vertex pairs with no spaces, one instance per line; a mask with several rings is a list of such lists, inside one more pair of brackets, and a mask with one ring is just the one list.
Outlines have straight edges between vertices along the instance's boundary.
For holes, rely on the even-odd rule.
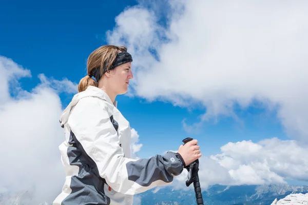
[[132,204],[134,194],[168,185],[183,171],[183,159],[174,152],[131,159],[129,122],[116,104],[89,86],[63,111],[59,149],[66,180],[53,205]]

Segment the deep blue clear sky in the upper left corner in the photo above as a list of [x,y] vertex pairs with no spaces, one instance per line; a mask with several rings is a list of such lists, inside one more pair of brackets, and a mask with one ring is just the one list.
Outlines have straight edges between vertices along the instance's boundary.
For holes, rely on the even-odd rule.
[[[105,32],[114,17],[135,1],[5,1],[1,7],[1,54],[31,69],[32,75],[45,73],[56,79],[79,81],[86,59],[95,48],[106,44]],[[33,77],[23,86],[38,83]]]

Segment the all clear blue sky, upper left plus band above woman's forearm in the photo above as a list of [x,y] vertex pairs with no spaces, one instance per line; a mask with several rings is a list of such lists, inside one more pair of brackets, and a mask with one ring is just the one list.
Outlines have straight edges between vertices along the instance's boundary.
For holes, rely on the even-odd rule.
[[[95,48],[107,44],[105,32],[115,26],[114,18],[136,1],[85,3],[76,1],[6,1],[2,7],[1,55],[30,69],[32,77],[21,79],[25,90],[32,89],[44,73],[55,79],[68,78],[78,83],[85,75],[86,59]],[[65,107],[72,95],[62,97]],[[186,133],[181,121],[198,121],[205,108],[175,107],[171,103],[147,103],[138,97],[119,96],[119,109],[135,128],[143,144],[140,157],[176,150],[181,140],[191,136],[200,140],[202,153],[216,154],[229,141],[262,138],[285,138],[275,113],[261,118],[262,110],[249,108],[241,112],[244,125],[223,118],[205,124],[199,133]],[[157,146],[153,146],[157,145]]]

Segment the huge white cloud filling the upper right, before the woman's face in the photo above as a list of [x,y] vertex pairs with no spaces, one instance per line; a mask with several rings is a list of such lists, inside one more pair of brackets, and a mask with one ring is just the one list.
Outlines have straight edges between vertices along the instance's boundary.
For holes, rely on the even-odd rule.
[[187,130],[220,115],[236,118],[235,105],[259,101],[277,109],[290,136],[307,141],[307,1],[164,3],[123,11],[107,33],[133,55],[133,94],[202,103],[201,123],[184,124]]

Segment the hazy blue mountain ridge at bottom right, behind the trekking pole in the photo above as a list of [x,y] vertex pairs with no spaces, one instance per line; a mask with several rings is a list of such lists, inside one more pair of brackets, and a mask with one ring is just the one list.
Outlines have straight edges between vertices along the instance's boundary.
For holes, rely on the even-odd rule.
[[[209,205],[269,205],[276,198],[279,200],[294,193],[308,193],[308,187],[293,185],[214,185],[202,191],[202,196],[204,204]],[[193,189],[183,191],[165,187],[156,193],[151,193],[151,190],[149,190],[138,195],[141,198],[142,205],[163,204],[162,202],[169,205],[196,204]]]

